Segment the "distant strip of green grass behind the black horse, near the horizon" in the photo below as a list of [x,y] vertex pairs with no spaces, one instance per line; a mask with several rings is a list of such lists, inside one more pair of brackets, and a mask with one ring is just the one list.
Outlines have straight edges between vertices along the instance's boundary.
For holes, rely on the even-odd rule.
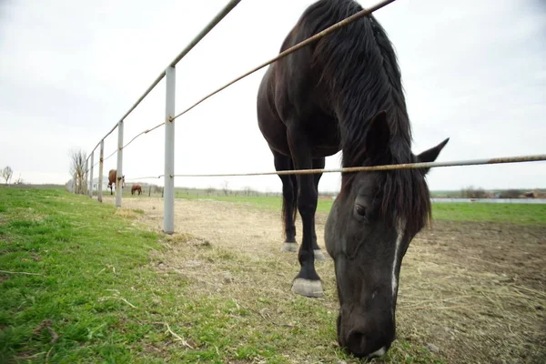
[[[253,207],[280,210],[281,197],[253,196],[184,196],[187,199],[209,198]],[[319,199],[317,211],[328,213],[333,200]],[[501,222],[518,225],[546,225],[546,205],[541,204],[490,204],[490,203],[433,203],[432,217],[438,220]]]

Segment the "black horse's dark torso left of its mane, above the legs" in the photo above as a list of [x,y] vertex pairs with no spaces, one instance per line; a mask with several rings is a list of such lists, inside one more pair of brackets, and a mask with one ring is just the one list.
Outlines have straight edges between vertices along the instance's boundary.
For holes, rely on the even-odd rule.
[[[306,14],[285,37],[281,52],[316,34],[317,27],[308,26]],[[288,128],[308,135],[313,157],[339,151],[337,119],[319,82],[320,70],[313,66],[313,52],[314,45],[309,45],[279,59],[268,67],[258,88],[259,129],[271,149],[287,156]]]

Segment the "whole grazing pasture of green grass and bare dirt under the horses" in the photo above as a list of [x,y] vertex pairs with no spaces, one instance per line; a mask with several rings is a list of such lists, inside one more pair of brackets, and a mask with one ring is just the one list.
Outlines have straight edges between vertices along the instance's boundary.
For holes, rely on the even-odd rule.
[[[358,362],[335,340],[331,259],[323,298],[290,292],[280,197],[178,198],[169,237],[162,199],[113,204],[0,187],[0,362]],[[398,339],[373,362],[546,356],[546,207],[461,205],[433,205],[411,243]]]

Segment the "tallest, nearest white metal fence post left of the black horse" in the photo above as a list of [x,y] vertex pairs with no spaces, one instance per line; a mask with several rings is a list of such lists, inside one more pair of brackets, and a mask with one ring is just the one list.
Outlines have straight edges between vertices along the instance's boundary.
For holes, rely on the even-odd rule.
[[165,71],[167,95],[165,103],[165,195],[163,197],[163,232],[175,232],[175,96],[177,69],[168,66]]

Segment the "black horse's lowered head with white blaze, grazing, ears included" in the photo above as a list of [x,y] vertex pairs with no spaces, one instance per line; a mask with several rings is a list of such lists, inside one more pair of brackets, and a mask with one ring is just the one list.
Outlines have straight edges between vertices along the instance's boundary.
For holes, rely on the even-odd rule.
[[[396,162],[385,113],[370,121],[366,159]],[[436,159],[448,140],[414,162]],[[407,162],[410,162],[408,160]],[[338,340],[357,357],[379,357],[395,339],[399,269],[411,239],[430,216],[424,169],[359,172],[343,176],[325,228],[339,295]]]

